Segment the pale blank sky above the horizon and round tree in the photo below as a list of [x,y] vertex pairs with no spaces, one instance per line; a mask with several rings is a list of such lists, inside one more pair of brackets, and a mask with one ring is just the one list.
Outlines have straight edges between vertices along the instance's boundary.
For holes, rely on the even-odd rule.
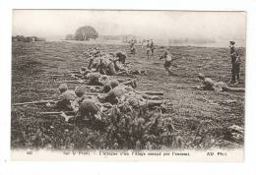
[[13,35],[62,39],[83,26],[101,35],[166,38],[245,38],[243,12],[13,10]]

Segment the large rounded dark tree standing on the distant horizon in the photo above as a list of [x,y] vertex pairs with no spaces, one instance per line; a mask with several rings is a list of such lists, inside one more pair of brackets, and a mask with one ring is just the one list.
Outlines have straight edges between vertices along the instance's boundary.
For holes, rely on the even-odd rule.
[[98,37],[98,33],[96,29],[90,26],[81,27],[76,30],[75,39],[76,40],[89,40],[91,38],[96,39]]

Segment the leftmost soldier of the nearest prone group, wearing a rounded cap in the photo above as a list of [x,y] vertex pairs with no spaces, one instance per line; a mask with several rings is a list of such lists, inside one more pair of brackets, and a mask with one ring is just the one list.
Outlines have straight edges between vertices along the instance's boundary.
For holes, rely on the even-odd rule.
[[63,111],[73,111],[74,108],[72,107],[72,103],[76,99],[75,92],[69,90],[66,84],[61,84],[58,89],[61,94],[58,96],[55,104],[46,103],[46,106],[54,107]]

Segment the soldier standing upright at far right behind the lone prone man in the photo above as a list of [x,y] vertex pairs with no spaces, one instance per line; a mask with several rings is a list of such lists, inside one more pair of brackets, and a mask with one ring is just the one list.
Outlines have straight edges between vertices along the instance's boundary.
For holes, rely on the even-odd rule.
[[230,57],[231,57],[231,64],[232,64],[232,69],[231,69],[231,80],[229,84],[239,84],[239,79],[240,79],[240,57],[237,53],[236,48],[234,47],[235,42],[230,41],[229,42],[229,48],[230,48]]

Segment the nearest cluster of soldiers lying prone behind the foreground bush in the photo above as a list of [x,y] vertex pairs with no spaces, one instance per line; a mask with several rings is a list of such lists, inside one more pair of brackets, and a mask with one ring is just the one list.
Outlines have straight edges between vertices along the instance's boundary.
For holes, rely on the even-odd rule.
[[141,107],[154,108],[161,106],[162,92],[139,91],[135,80],[116,80],[99,73],[86,75],[87,85],[69,90],[67,84],[61,84],[59,98],[55,104],[48,107],[58,108],[62,111],[74,111],[77,119],[96,119],[107,109],[117,105],[122,109]]

